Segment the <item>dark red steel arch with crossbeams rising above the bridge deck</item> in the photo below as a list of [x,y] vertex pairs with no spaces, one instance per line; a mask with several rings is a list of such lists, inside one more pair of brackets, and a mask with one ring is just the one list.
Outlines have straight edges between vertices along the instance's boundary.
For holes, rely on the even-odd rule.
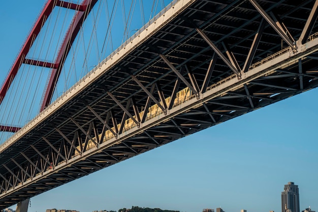
[[[28,37],[26,38],[21,51],[19,52],[17,58],[15,59],[8,76],[5,79],[4,84],[0,90],[0,104],[2,103],[4,97],[7,94],[7,91],[10,88],[15,76],[18,73],[18,70],[21,64],[36,65],[41,67],[47,67],[51,69],[51,75],[48,81],[46,91],[44,93],[44,99],[41,105],[41,111],[43,111],[51,102],[53,91],[55,89],[58,77],[60,75],[62,66],[71,50],[73,42],[83,24],[89,12],[93,6],[97,3],[98,0],[84,0],[81,5],[77,5],[70,2],[60,1],[60,0],[49,0],[45,4],[42,12],[40,13],[37,21],[35,22],[33,28],[31,29]],[[33,46],[36,38],[38,37],[42,27],[44,26],[49,15],[52,13],[55,7],[63,7],[69,10],[76,10],[77,12],[74,15],[72,23],[69,26],[69,29],[66,32],[64,40],[61,44],[61,47],[58,50],[56,59],[53,63],[42,61],[40,59],[28,59],[27,54],[31,47]],[[17,132],[20,127],[11,127],[11,126],[0,126],[0,131],[8,132]]]

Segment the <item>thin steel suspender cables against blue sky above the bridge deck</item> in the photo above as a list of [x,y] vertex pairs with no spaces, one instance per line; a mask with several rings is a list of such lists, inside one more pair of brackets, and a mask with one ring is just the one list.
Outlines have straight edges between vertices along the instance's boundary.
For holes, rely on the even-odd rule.
[[[76,12],[81,10],[81,5],[85,1],[48,0],[42,11],[50,2],[57,6],[48,17],[42,20],[41,30],[33,38],[33,44],[25,55],[25,59],[20,62],[17,75],[0,104],[1,126],[11,129],[22,127],[40,112],[49,76],[56,65],[54,61],[63,40],[67,39],[67,31],[72,27],[71,23],[76,18]],[[61,2],[65,3],[63,7],[59,7]],[[70,53],[64,56],[66,58],[62,58],[65,62],[62,65],[60,77],[55,82],[56,87],[51,101],[66,92],[126,41],[133,32],[141,28],[145,24],[146,16],[149,19],[153,18],[170,2],[166,1],[165,4],[163,0],[154,0],[151,3],[142,0],[129,2],[100,0],[89,14],[86,11],[87,17],[83,20],[73,45],[68,47]],[[158,5],[162,7],[158,9]],[[140,11],[135,12],[135,10]],[[41,18],[40,15],[38,18]],[[121,39],[118,39],[120,37]],[[51,66],[43,65],[43,63],[51,64]],[[13,132],[0,132],[0,144],[12,134]]]

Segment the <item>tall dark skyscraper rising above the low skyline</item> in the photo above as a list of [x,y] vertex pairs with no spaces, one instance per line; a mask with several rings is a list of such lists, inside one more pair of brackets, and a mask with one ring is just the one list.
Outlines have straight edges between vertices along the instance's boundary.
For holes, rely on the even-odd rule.
[[281,192],[281,212],[300,212],[298,186],[289,182]]

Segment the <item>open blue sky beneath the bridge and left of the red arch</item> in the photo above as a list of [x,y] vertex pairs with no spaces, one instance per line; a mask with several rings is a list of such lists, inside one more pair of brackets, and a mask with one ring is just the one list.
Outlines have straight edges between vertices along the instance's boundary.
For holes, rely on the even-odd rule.
[[[0,82],[42,5],[2,2]],[[317,96],[317,89],[307,91],[120,162],[31,198],[28,211],[134,205],[279,212],[288,182],[299,185],[301,210],[318,211]]]

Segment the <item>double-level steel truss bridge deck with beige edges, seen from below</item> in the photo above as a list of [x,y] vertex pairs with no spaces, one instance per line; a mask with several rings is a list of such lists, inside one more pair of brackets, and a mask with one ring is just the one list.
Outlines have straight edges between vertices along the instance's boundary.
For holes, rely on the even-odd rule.
[[174,1],[0,147],[0,208],[317,87],[317,7]]

